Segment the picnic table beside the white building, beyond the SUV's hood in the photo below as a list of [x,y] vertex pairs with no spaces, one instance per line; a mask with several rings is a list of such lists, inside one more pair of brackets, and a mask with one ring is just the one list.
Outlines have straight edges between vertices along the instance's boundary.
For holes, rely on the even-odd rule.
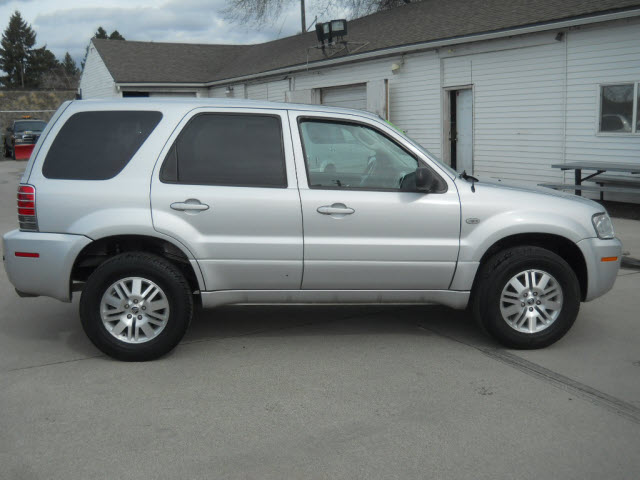
[[[567,162],[557,163],[551,165],[551,168],[559,168],[561,170],[574,170],[575,171],[575,184],[567,183],[541,183],[543,187],[554,188],[556,190],[574,190],[576,195],[581,195],[582,191],[597,191],[600,192],[600,199],[604,192],[616,192],[616,193],[640,193],[640,177],[612,177],[602,175],[605,172],[623,172],[630,173],[632,175],[640,175],[640,162]],[[587,176],[582,176],[582,171],[594,171]],[[597,185],[583,185],[582,182],[591,180],[597,183]],[[604,185],[605,183],[618,183],[627,186],[614,186]]]

